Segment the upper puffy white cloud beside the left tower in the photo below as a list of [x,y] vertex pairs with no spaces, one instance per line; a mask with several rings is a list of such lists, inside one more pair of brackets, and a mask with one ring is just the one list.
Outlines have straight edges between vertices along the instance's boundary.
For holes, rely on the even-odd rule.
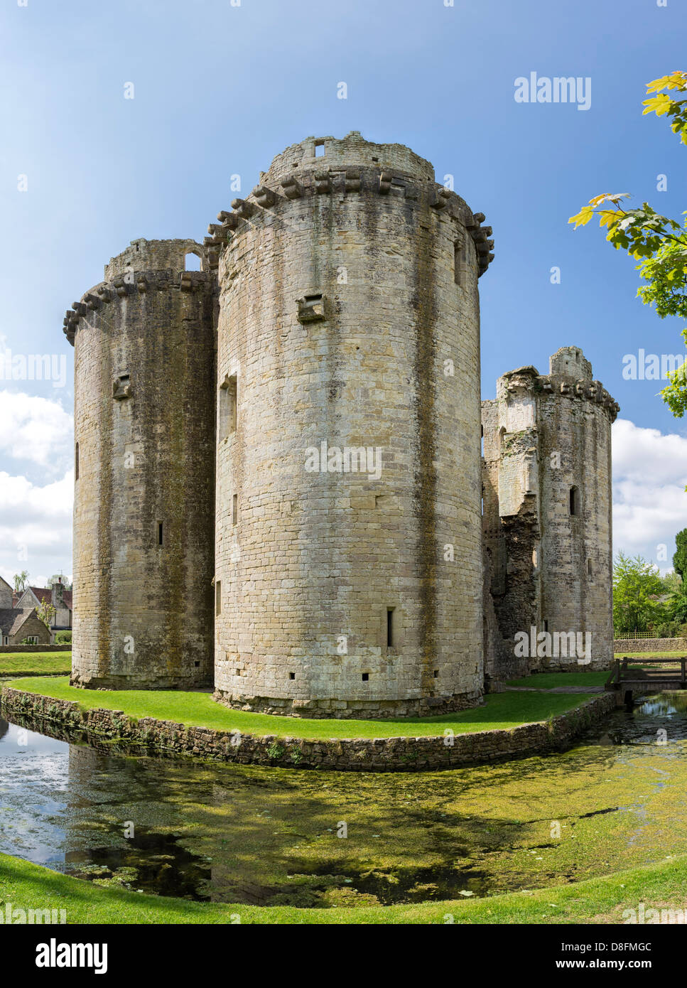
[[71,461],[74,422],[58,402],[0,390],[0,422],[0,453],[31,460],[53,474]]

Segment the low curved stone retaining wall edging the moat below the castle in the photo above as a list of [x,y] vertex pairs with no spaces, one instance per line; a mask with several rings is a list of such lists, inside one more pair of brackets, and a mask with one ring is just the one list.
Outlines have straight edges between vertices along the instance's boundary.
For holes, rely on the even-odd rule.
[[[121,710],[82,710],[70,700],[4,687],[2,706],[13,713],[37,718],[38,729],[50,724],[83,732],[85,740],[116,739],[143,747],[144,754],[176,755],[272,765],[292,769],[329,769],[340,772],[420,772],[479,765],[537,753],[562,751],[585,728],[615,707],[614,693],[585,700],[551,721],[522,724],[510,730],[477,731],[438,737],[359,739],[303,739],[253,736],[240,731],[189,727],[170,720],[129,719]],[[141,753],[141,752],[139,752]]]

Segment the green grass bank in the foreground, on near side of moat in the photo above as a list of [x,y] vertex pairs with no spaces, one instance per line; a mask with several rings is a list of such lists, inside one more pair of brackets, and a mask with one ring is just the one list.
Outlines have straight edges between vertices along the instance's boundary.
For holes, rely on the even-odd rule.
[[65,909],[67,923],[251,923],[251,924],[461,924],[623,923],[623,910],[684,909],[685,857],[617,871],[601,878],[533,892],[510,892],[481,899],[298,909],[294,906],[245,906],[191,902],[187,899],[103,888],[38,864],[0,855],[0,908]]

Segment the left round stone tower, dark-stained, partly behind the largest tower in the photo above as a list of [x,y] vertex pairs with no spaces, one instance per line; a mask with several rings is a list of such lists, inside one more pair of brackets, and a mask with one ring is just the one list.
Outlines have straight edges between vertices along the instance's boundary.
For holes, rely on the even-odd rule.
[[134,240],[65,317],[74,345],[74,686],[212,683],[216,278]]

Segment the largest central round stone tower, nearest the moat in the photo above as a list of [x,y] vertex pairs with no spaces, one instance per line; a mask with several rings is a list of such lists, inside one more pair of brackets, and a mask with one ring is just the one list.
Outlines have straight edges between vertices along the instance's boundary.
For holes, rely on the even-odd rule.
[[483,689],[478,277],[399,144],[309,137],[220,212],[216,698],[411,715]]

